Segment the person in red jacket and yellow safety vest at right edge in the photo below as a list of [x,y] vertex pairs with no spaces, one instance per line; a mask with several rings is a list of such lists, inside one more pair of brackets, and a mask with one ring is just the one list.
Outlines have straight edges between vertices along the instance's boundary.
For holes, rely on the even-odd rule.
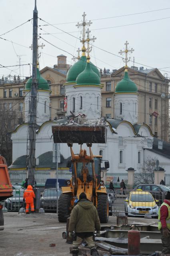
[[161,232],[162,253],[170,254],[170,192],[166,194],[164,203],[158,212],[158,230]]

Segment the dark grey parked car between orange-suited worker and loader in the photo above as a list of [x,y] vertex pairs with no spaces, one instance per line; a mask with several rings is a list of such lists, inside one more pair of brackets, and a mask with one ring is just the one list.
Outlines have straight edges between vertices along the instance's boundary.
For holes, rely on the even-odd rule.
[[[58,199],[62,194],[61,190],[58,190]],[[44,189],[42,197],[40,198],[40,207],[44,210],[56,211],[57,209],[57,191],[56,189]]]

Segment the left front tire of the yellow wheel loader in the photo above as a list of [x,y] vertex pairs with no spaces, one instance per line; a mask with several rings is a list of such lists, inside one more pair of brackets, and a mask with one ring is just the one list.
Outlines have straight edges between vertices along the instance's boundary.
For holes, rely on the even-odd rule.
[[58,221],[67,222],[67,218],[70,215],[70,199],[69,194],[61,194],[58,200]]

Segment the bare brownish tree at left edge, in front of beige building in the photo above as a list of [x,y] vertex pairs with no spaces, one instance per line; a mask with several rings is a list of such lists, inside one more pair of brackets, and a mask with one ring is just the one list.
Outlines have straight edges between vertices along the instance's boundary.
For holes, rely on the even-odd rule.
[[12,163],[12,140],[10,132],[22,121],[22,112],[0,104],[0,154],[6,158],[7,165]]

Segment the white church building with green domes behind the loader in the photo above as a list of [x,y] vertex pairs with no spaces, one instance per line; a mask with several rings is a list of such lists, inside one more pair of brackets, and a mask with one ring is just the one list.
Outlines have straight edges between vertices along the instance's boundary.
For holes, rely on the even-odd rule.
[[[107,128],[107,143],[93,144],[92,152],[102,154],[104,160],[110,163],[109,173],[126,173],[128,168],[140,171],[148,157],[159,160],[160,167],[170,173],[170,145],[163,142],[163,148],[158,148],[158,139],[154,138],[152,130],[146,124],[138,124],[138,88],[128,77],[125,67],[124,77],[116,85],[114,93],[114,119],[101,118],[101,89],[100,72],[82,48],[81,58],[70,67],[65,88],[67,98],[67,111],[65,118],[50,120],[50,89],[48,82],[38,75],[38,104],[37,104],[37,130],[36,130],[36,170],[52,171],[53,137],[52,125],[62,125],[74,116],[84,116],[86,123],[104,122]],[[11,133],[12,139],[12,165],[10,171],[26,171],[28,156],[28,122],[30,105],[30,87],[32,79],[28,79],[25,86],[26,122],[20,124]],[[101,119],[100,119],[101,118]],[[81,118],[79,118],[81,119]],[[82,145],[86,148],[86,145]],[[73,150],[78,153],[80,145],[74,144]],[[87,149],[88,152],[88,149]],[[59,170],[68,170],[66,161],[70,156],[67,144],[60,143]]]

